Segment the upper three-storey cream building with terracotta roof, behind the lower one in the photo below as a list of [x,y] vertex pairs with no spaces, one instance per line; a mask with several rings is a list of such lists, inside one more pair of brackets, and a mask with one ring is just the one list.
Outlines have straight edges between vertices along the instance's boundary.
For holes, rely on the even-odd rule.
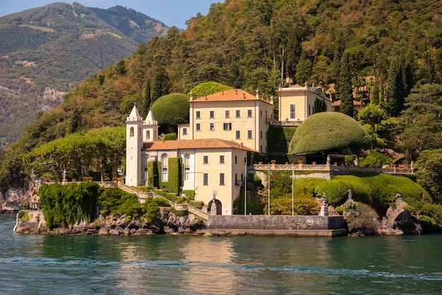
[[220,138],[267,153],[273,103],[240,89],[190,100],[189,124],[179,125],[180,140]]

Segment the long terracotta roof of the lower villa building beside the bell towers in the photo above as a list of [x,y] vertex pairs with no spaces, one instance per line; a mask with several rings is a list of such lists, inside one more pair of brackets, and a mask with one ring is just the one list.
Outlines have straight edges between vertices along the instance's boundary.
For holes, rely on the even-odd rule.
[[152,143],[143,143],[143,150],[180,150],[188,148],[237,148],[256,152],[251,148],[246,148],[240,143],[234,141],[222,140],[218,138],[192,139],[192,140],[166,140],[154,141]]

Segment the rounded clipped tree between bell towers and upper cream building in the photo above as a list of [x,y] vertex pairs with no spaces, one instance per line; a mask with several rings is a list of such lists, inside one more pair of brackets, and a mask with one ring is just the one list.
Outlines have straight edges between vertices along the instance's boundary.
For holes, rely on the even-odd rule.
[[160,132],[178,131],[178,124],[189,123],[189,97],[172,93],[158,98],[152,104],[152,112],[160,125]]

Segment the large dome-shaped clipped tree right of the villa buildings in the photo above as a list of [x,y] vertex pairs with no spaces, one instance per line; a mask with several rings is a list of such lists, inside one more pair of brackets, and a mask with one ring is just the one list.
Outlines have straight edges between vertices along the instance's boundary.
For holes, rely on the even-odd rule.
[[295,131],[289,154],[316,154],[345,148],[369,149],[371,138],[350,116],[338,112],[321,112],[306,119]]

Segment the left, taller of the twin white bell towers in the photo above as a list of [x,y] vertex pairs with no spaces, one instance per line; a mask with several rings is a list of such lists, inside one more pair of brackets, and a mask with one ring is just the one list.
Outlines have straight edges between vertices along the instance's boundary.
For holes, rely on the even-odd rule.
[[126,117],[126,185],[141,185],[141,149],[143,148],[143,118],[133,104]]

